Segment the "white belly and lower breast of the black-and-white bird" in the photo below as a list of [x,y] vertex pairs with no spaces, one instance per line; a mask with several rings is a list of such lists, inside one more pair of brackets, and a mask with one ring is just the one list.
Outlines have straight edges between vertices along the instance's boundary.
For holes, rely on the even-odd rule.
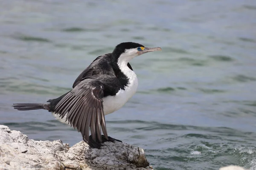
[[135,94],[138,87],[138,79],[134,77],[134,80],[129,81],[125,90],[119,90],[115,96],[107,96],[103,98],[103,111],[107,115],[122,108],[123,105]]

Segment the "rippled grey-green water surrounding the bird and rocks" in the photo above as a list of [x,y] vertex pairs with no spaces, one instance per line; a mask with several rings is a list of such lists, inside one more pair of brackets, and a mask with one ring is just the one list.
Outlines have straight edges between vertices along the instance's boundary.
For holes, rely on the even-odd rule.
[[256,1],[12,0],[0,5],[0,124],[73,145],[47,111],[120,42],[162,47],[132,60],[134,97],[106,116],[110,136],[145,149],[156,170],[256,169]]

